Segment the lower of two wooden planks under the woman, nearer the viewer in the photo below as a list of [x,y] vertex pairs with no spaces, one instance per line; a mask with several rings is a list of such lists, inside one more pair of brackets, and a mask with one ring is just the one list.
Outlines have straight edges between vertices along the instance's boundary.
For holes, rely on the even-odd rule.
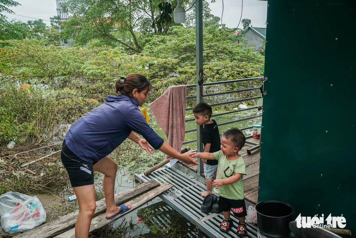
[[[89,232],[93,232],[96,229],[113,222],[114,220],[120,218],[121,216],[126,215],[127,213],[144,205],[145,203],[149,202],[150,200],[157,197],[158,195],[161,195],[162,193],[164,193],[165,191],[167,191],[168,189],[170,189],[172,187],[173,187],[172,184],[163,183],[159,187],[152,189],[151,191],[149,191],[143,195],[133,198],[132,200],[127,202],[127,204],[131,205],[131,209],[123,214],[116,216],[113,219],[110,219],[110,220],[106,219],[105,214],[100,214],[99,216],[95,216],[92,220],[91,225],[90,225]],[[65,233],[58,235],[56,238],[74,238],[74,237],[75,237],[75,229],[73,228]]]

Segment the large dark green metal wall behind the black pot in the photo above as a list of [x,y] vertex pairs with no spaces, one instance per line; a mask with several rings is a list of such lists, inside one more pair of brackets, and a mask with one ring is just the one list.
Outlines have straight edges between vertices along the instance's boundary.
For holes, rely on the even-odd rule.
[[356,233],[356,1],[268,0],[258,201]]

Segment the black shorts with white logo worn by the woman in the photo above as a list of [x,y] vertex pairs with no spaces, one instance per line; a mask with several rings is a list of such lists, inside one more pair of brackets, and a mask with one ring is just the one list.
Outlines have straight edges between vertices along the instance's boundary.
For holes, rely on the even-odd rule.
[[60,158],[68,172],[72,187],[94,184],[93,163],[80,159],[75,153],[69,150],[65,144],[65,140],[62,144]]

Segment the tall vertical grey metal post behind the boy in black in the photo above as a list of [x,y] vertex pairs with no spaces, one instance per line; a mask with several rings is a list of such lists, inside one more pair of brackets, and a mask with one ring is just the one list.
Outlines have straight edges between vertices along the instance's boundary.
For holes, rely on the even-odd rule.
[[[203,101],[203,0],[196,0],[196,56],[197,56],[197,103]],[[203,126],[197,125],[197,150],[203,151],[201,143],[201,130]],[[203,171],[203,165],[198,158],[197,173],[200,175]]]

